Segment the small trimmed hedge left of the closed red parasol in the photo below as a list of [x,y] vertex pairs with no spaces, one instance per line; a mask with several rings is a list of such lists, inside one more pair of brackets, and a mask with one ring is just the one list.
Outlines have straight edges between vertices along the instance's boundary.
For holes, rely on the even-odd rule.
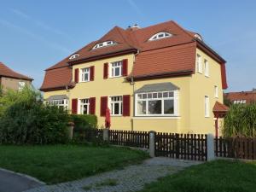
[[71,121],[74,123],[75,130],[96,129],[97,117],[92,114],[71,114]]

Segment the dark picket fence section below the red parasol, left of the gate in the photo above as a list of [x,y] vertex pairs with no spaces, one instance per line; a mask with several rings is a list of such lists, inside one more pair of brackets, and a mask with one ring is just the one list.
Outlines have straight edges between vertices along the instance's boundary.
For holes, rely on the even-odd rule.
[[136,148],[149,148],[149,134],[146,131],[108,131],[108,142]]

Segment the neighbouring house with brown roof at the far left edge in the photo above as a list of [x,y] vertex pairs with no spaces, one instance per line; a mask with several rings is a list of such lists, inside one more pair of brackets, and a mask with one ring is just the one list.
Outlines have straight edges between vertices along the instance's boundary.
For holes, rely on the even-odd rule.
[[32,80],[25,75],[16,73],[9,67],[0,62],[0,86],[4,90],[22,90],[26,84],[32,84]]

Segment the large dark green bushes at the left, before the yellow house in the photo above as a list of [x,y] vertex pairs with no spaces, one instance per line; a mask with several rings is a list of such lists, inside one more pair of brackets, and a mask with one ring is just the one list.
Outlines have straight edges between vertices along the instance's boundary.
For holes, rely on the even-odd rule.
[[67,111],[45,106],[41,94],[26,87],[8,90],[0,98],[0,143],[67,142]]

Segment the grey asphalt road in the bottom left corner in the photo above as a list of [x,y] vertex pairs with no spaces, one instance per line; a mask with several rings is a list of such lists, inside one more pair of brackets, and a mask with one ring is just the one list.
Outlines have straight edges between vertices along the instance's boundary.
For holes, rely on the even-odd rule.
[[0,169],[0,192],[21,192],[42,185],[32,177]]

